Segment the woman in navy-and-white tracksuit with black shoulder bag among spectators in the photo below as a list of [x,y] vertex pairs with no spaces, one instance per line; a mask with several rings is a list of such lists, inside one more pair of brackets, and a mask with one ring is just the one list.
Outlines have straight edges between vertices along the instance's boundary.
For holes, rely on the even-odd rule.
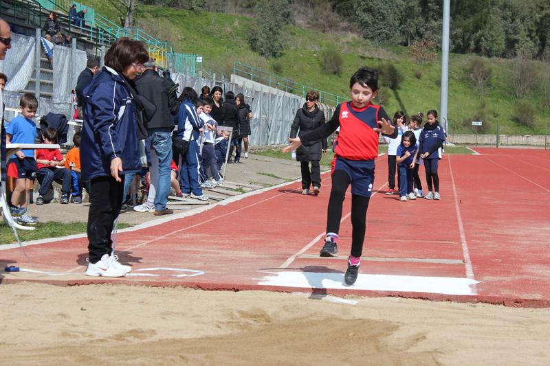
[[[191,87],[185,87],[179,95],[179,112],[174,117],[177,123],[177,137],[190,141],[187,154],[182,157],[179,183],[181,192],[190,194],[191,198],[208,201],[208,197],[202,194],[200,182],[200,148],[197,141],[201,135],[199,129],[204,125],[197,115],[197,108],[193,100],[197,99],[197,92]],[[174,161],[179,163],[179,155],[174,155]]]

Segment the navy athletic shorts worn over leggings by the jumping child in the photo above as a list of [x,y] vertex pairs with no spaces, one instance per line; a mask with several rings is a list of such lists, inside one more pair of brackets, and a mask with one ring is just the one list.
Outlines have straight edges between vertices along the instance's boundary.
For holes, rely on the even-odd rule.
[[344,170],[351,179],[351,194],[370,197],[374,184],[374,160],[347,160],[338,155],[333,160],[332,172]]

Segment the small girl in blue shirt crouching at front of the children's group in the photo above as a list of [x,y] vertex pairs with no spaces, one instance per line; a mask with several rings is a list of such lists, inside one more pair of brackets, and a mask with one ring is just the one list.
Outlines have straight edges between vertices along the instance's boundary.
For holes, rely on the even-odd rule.
[[412,170],[415,168],[418,146],[415,133],[407,131],[401,137],[401,144],[397,146],[397,167],[399,168],[399,196],[401,201],[417,199],[412,190]]

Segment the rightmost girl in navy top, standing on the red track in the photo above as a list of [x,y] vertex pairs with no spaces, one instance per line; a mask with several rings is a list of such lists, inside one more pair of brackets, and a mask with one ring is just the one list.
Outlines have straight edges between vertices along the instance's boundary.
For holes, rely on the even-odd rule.
[[427,117],[428,123],[422,128],[419,138],[419,152],[421,153],[420,157],[424,159],[426,183],[428,183],[429,191],[424,198],[427,200],[440,200],[437,168],[439,160],[441,160],[441,147],[443,146],[443,141],[445,141],[445,131],[437,122],[437,111],[430,109]]

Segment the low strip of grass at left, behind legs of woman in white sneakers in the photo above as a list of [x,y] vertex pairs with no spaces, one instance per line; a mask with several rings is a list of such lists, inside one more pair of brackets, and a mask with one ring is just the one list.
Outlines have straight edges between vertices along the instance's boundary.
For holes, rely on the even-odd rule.
[[[118,229],[124,229],[131,227],[130,224],[118,224]],[[36,225],[34,230],[17,230],[17,235],[21,242],[28,242],[30,240],[40,240],[47,238],[59,238],[61,236],[68,236],[73,234],[85,233],[87,230],[87,222],[71,222],[69,224],[63,224],[57,221],[42,222]],[[13,230],[5,222],[0,224],[0,244],[10,244],[17,242],[13,235]]]

